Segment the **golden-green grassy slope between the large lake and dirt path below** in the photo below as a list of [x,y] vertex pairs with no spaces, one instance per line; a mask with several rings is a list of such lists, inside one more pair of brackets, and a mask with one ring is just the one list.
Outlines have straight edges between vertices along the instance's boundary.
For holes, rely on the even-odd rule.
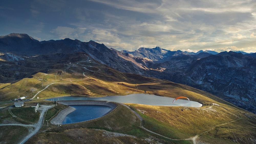
[[143,117],[144,127],[174,139],[198,135],[202,142],[251,143],[256,137],[255,115],[225,104],[200,108],[127,105]]

